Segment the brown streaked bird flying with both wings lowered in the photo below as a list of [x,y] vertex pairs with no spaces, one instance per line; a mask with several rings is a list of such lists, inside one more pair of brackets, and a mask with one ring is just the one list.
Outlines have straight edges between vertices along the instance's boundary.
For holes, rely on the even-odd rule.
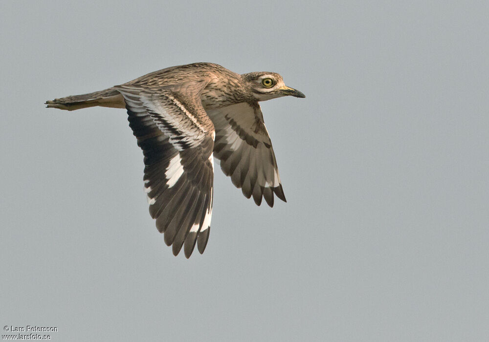
[[214,159],[257,205],[286,201],[259,101],[304,98],[275,72],[237,74],[218,64],[178,65],[47,107],[126,108],[144,154],[144,191],[156,228],[178,255],[204,252],[209,238]]

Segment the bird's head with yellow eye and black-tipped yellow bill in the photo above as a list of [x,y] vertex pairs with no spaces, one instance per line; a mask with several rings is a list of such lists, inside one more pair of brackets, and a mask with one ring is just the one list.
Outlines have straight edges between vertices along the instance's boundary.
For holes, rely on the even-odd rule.
[[266,101],[282,96],[306,97],[299,90],[285,85],[282,76],[276,72],[250,72],[241,75],[244,82],[251,88],[257,101]]

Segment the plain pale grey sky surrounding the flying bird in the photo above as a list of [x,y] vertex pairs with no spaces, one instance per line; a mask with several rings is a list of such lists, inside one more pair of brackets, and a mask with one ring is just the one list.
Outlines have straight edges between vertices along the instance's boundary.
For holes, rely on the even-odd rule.
[[[178,3],[177,3],[178,2]],[[488,341],[487,1],[0,2],[0,324],[53,341]],[[205,253],[148,214],[123,109],[164,67],[276,71],[288,203],[216,168]]]

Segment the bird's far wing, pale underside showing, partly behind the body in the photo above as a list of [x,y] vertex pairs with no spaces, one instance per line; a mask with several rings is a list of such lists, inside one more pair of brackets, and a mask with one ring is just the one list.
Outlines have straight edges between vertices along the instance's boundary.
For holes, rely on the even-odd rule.
[[258,103],[239,103],[207,110],[214,123],[214,156],[233,184],[257,205],[265,197],[273,206],[273,193],[286,202],[277,161]]

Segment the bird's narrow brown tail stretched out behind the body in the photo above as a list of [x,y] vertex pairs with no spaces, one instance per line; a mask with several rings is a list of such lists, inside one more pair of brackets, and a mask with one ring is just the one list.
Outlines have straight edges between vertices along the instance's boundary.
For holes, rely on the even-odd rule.
[[95,106],[113,108],[126,107],[122,95],[113,88],[95,91],[93,93],[83,95],[62,97],[61,99],[46,101],[45,104],[48,108],[58,108],[65,110],[75,110]]

